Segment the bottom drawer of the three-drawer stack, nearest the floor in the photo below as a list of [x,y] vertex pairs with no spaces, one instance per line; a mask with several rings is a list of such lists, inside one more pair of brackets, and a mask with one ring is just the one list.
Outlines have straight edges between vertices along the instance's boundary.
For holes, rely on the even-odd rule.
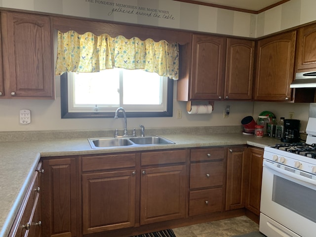
[[222,210],[223,189],[207,189],[190,192],[189,216]]

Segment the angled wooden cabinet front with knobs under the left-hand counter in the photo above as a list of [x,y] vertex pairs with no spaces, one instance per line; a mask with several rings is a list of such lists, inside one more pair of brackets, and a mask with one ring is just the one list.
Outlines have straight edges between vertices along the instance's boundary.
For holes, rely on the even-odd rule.
[[[41,162],[37,170],[41,170]],[[36,171],[22,201],[9,236],[27,237],[32,236],[30,233],[40,232],[40,226],[38,225],[40,221],[38,204],[40,204],[40,174]],[[29,231],[27,231],[28,229]]]

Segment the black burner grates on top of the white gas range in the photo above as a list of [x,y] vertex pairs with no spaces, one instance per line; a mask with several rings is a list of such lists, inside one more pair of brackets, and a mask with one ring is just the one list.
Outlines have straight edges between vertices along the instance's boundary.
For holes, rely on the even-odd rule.
[[295,153],[301,156],[316,158],[316,144],[306,144],[306,143],[286,143],[286,144],[276,144],[272,148],[276,148],[282,151]]

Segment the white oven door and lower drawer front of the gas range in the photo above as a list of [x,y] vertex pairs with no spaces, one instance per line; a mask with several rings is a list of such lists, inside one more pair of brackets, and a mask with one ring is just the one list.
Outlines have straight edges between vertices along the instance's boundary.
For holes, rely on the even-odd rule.
[[314,175],[264,159],[260,212],[268,237],[315,237]]

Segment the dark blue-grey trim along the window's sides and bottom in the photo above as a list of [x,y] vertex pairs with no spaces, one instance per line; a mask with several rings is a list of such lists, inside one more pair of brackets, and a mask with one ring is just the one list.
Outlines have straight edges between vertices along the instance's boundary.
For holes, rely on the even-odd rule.
[[[115,112],[68,112],[68,74],[60,76],[61,118],[114,118]],[[121,113],[119,113],[121,114]],[[167,111],[164,112],[126,112],[126,117],[172,117],[173,79],[168,79]]]

